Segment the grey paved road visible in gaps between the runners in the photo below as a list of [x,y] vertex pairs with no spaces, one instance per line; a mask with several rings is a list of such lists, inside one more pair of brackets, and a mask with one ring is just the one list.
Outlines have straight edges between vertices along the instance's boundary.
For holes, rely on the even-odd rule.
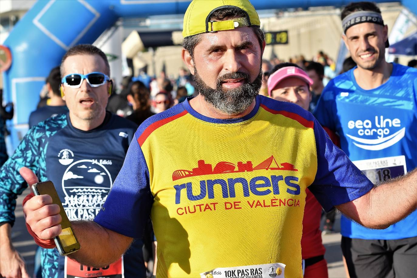
[[[22,210],[23,198],[29,192],[29,189],[26,189],[25,192],[23,192],[23,194],[18,197],[18,204],[15,211],[16,223],[12,230],[12,237],[13,245],[26,261],[28,273],[33,273],[34,255],[37,245],[26,230],[25,218],[23,217]],[[340,230],[340,215],[337,215],[334,227],[336,231]],[[323,243],[326,247],[326,255],[324,257],[328,263],[330,278],[346,277],[342,262],[342,252],[340,250],[340,238],[341,235],[339,233],[323,235]]]

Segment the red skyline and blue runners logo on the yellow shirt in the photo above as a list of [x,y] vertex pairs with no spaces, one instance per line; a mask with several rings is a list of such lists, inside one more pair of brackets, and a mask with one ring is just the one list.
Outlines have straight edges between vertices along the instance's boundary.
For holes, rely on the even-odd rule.
[[[274,156],[271,155],[266,160],[262,161],[255,167],[253,167],[251,161],[247,161],[246,163],[243,163],[239,161],[237,165],[234,165],[233,163],[221,161],[216,164],[216,166],[213,168],[211,164],[205,163],[204,160],[198,160],[198,167],[193,168],[192,170],[176,170],[172,174],[172,179],[175,180],[181,180],[183,178],[192,177],[192,176],[203,176],[203,175],[211,175],[211,174],[225,174],[225,173],[242,173],[242,172],[254,172],[256,170],[277,170],[278,172],[280,170],[285,171],[293,171],[297,172],[298,169],[294,168],[294,165],[291,163],[277,163]],[[276,174],[276,172],[274,172]],[[234,198],[236,197],[236,191],[235,188],[239,188],[238,190],[243,191],[244,197],[249,197],[251,194],[263,196],[263,195],[269,195],[273,193],[274,195],[279,194],[279,184],[281,185],[281,188],[283,185],[286,185],[286,192],[293,195],[299,195],[301,188],[299,184],[297,183],[299,180],[298,177],[293,175],[283,176],[283,175],[270,175],[269,177],[266,176],[255,176],[251,178],[250,180],[247,180],[246,178],[228,178],[228,179],[208,179],[208,180],[200,180],[199,186],[198,184],[193,184],[191,182],[184,182],[183,184],[177,184],[173,187],[175,188],[175,203],[179,204],[181,203],[181,191],[185,191],[186,194],[183,194],[182,198],[188,198],[190,201],[197,201],[205,198],[208,196],[208,199],[214,199],[214,186],[220,186],[222,191],[222,197],[223,198]],[[194,187],[194,190],[193,190]],[[199,187],[199,190],[198,190]],[[195,191],[199,191],[198,195],[194,195]],[[256,208],[258,206],[267,207],[267,206],[274,206],[272,205],[274,202],[279,203],[286,203],[288,206],[299,206],[299,200],[296,199],[276,199],[273,197],[273,200],[263,200],[261,201],[253,200],[252,202],[248,201],[248,205],[251,208]],[[227,204],[226,204],[227,203]],[[234,206],[235,204],[226,202],[225,208],[231,204]],[[240,203],[234,202],[234,203]],[[275,204],[274,203],[274,204]],[[211,203],[213,207],[216,207],[217,203]],[[268,205],[271,204],[271,205]],[[208,204],[206,204],[207,207]],[[279,206],[277,205],[277,206]],[[285,205],[285,204],[284,204]],[[199,205],[197,205],[199,206]],[[204,204],[200,205],[200,210],[202,210],[201,206],[204,206]],[[239,204],[236,204],[236,206],[239,206]],[[236,208],[236,207],[235,207]],[[214,209],[215,210],[215,209]],[[178,211],[177,211],[178,213]],[[178,213],[181,215],[181,213]]]

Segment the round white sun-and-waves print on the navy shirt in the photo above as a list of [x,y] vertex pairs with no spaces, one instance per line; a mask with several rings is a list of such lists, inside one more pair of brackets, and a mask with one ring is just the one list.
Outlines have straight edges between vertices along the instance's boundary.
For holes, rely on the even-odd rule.
[[113,185],[111,175],[103,165],[109,161],[78,160],[65,170],[63,207],[70,220],[92,219],[100,211]]

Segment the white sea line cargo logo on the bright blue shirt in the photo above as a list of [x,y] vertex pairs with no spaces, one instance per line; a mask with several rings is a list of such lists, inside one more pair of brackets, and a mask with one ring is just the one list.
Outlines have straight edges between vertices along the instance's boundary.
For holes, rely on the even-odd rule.
[[[383,116],[375,116],[373,119],[366,120],[349,120],[347,123],[349,129],[357,131],[357,136],[346,134],[353,140],[353,144],[364,150],[383,150],[388,148],[405,135],[405,127],[401,128],[401,120],[398,118],[389,119]],[[401,128],[398,130],[398,128]],[[368,139],[372,136],[375,139]]]

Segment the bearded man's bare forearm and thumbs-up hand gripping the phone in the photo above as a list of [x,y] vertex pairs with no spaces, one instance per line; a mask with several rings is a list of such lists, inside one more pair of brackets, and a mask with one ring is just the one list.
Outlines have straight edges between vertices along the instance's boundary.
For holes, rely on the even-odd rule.
[[[38,182],[35,173],[28,168],[20,169],[20,174],[31,186]],[[61,233],[59,206],[52,203],[49,195],[38,195],[23,206],[26,223],[36,236],[48,240]],[[80,250],[68,257],[84,265],[105,267],[113,263],[126,251],[133,238],[108,230],[93,221],[71,222],[74,233],[81,245]]]

